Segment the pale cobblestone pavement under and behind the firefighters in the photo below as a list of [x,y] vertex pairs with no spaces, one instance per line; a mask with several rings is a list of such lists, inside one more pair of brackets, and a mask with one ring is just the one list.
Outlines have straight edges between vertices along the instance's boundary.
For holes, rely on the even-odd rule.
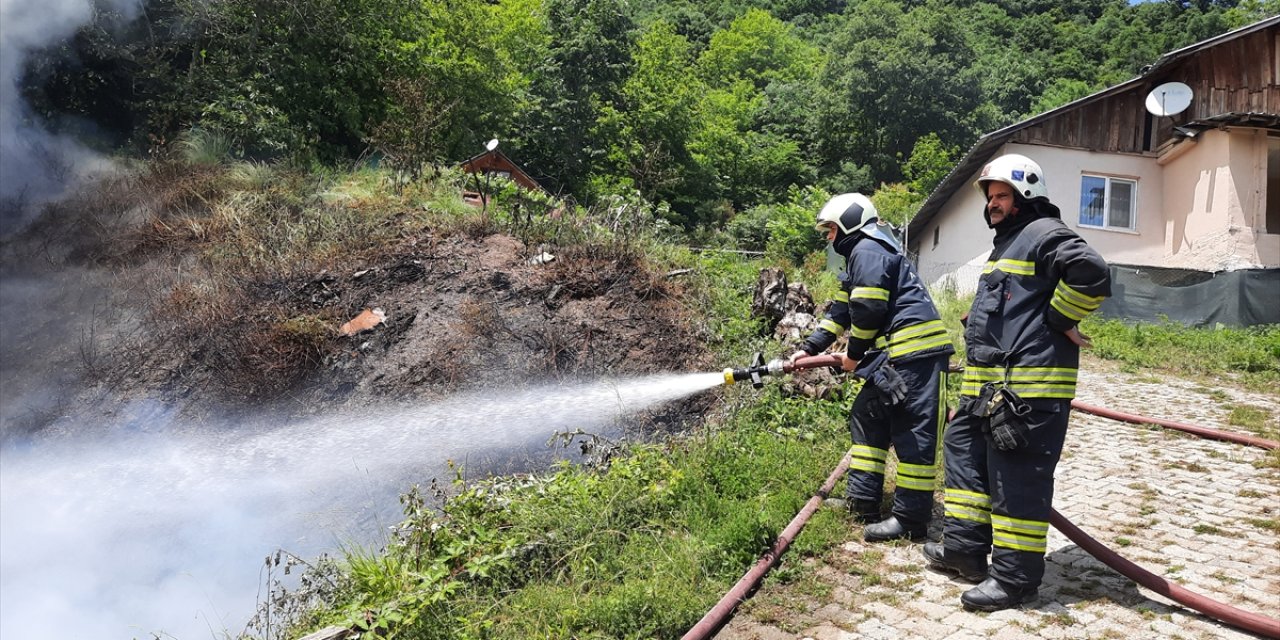
[[[1149,374],[1080,372],[1079,399],[1222,430],[1231,407],[1280,420],[1280,390]],[[1053,507],[1102,544],[1201,595],[1280,618],[1280,468],[1275,453],[1073,412]],[[837,492],[842,485],[837,485]],[[941,497],[938,498],[941,502]],[[840,508],[828,500],[824,508]],[[941,507],[938,508],[941,511]],[[931,536],[937,539],[938,526]],[[719,640],[1249,639],[1139,588],[1050,530],[1047,575],[1030,607],[969,613],[970,585],[924,568],[920,545],[850,539],[786,567],[740,608]],[[803,532],[800,534],[804,535]],[[777,573],[778,570],[774,570]],[[1280,630],[1277,630],[1280,635]]]

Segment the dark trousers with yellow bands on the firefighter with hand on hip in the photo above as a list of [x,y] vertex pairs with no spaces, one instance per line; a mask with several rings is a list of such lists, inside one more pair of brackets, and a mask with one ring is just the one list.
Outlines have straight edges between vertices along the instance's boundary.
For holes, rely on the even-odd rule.
[[991,576],[1023,589],[1044,577],[1053,468],[1062,454],[1071,401],[1037,399],[1027,416],[1029,444],[1000,451],[984,433],[988,419],[961,398],[943,435],[946,495],[943,545],[948,556],[986,557]]

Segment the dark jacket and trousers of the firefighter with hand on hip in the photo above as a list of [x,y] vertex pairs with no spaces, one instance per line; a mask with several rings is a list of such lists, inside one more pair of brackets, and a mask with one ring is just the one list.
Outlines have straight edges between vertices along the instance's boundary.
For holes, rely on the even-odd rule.
[[[945,438],[948,556],[992,550],[991,575],[1014,588],[1039,586],[1080,349],[1064,334],[1111,294],[1106,262],[1047,202],[1030,221],[997,236],[965,325],[960,407]],[[1034,212],[1032,214],[1036,215]],[[1009,220],[1006,220],[1009,221]],[[1032,407],[1028,443],[993,447],[979,413],[982,387],[1007,387]]]

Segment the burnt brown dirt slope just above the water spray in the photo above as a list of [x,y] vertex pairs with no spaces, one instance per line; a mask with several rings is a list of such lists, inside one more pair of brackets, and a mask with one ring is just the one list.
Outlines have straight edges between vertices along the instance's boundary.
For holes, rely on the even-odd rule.
[[[306,415],[530,379],[716,369],[681,283],[626,251],[531,261],[509,236],[420,237],[244,283],[234,305],[193,323],[177,293],[187,257],[102,260],[97,247],[41,260],[41,239],[3,247],[5,436],[143,399],[187,417]],[[366,308],[384,321],[343,334]]]

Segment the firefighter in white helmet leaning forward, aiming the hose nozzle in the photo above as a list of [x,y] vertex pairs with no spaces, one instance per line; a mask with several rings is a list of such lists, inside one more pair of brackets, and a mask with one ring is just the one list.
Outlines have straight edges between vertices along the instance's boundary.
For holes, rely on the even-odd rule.
[[[790,361],[822,353],[849,332],[844,369],[864,380],[849,417],[854,444],[846,490],[850,509],[867,524],[867,541],[922,540],[938,474],[942,380],[955,348],[915,268],[892,233],[879,225],[870,198],[861,193],[831,198],[818,212],[817,229],[827,233],[845,259],[841,289]],[[897,489],[883,517],[890,445],[897,452]]]

